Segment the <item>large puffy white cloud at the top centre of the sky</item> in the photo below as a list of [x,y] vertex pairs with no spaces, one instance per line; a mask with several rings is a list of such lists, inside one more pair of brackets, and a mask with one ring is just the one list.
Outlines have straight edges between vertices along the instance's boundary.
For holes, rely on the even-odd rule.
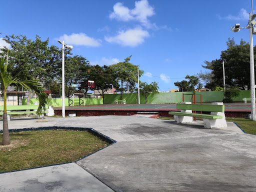
[[144,26],[151,27],[148,17],[154,14],[154,9],[149,5],[147,0],[139,0],[135,1],[135,7],[133,9],[129,9],[121,2],[115,3],[113,12],[109,14],[109,18],[122,21],[137,20]]

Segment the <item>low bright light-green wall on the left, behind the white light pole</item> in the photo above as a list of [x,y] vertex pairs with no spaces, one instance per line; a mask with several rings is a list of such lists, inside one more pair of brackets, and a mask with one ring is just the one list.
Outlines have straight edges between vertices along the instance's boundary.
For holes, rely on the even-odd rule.
[[[26,100],[27,98],[22,99],[22,105],[26,104]],[[31,98],[30,104],[34,104],[34,101],[38,101],[38,99]],[[60,98],[48,98],[47,104],[51,106],[62,106],[62,100]],[[103,99],[102,98],[85,98],[85,105],[90,105],[90,104],[103,104]],[[74,105],[79,105],[78,98],[74,99]],[[68,98],[65,98],[65,106],[68,106]]]

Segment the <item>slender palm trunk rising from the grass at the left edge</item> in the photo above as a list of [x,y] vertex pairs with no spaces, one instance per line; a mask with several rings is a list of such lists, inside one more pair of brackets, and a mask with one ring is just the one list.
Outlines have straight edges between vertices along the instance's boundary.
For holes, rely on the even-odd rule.
[[2,144],[10,144],[10,136],[6,112],[6,90],[3,90],[3,115],[2,115]]

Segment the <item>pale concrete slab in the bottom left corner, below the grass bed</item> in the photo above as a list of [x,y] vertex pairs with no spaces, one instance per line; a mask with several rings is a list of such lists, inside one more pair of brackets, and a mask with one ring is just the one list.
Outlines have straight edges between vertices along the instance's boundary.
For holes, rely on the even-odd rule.
[[113,191],[75,163],[0,174],[0,191]]

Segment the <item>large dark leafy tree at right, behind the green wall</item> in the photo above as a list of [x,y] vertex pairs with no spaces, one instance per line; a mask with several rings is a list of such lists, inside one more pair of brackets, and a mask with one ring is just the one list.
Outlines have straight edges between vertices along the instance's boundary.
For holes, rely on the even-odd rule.
[[[228,38],[227,49],[221,51],[220,58],[207,62],[205,67],[212,70],[213,80],[205,87],[223,87],[223,68],[225,68],[225,83],[229,86],[238,86],[245,89],[250,87],[250,51],[249,43],[241,39],[240,44],[235,44],[234,39]],[[254,59],[256,48],[254,46]]]

